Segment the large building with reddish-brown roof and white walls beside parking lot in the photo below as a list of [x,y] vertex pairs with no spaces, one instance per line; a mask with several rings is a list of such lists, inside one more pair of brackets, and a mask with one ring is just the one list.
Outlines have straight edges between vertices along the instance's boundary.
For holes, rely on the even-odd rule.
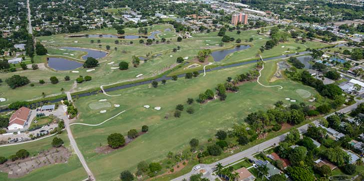
[[9,119],[8,130],[23,129],[27,124],[30,117],[30,109],[27,107],[20,107],[13,113]]

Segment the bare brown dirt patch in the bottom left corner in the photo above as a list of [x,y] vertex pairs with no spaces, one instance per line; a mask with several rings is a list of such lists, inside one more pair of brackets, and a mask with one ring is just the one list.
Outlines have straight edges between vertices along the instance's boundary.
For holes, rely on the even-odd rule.
[[14,162],[11,160],[7,161],[0,165],[0,171],[8,173],[8,178],[23,177],[37,168],[57,163],[67,163],[71,153],[71,151],[64,147],[51,148],[34,157],[28,157]]

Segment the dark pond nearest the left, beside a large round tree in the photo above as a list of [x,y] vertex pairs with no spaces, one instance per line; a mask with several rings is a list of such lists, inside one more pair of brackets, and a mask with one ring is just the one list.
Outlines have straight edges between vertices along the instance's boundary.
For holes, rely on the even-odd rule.
[[63,58],[48,58],[48,66],[56,71],[68,71],[82,67],[83,64]]

